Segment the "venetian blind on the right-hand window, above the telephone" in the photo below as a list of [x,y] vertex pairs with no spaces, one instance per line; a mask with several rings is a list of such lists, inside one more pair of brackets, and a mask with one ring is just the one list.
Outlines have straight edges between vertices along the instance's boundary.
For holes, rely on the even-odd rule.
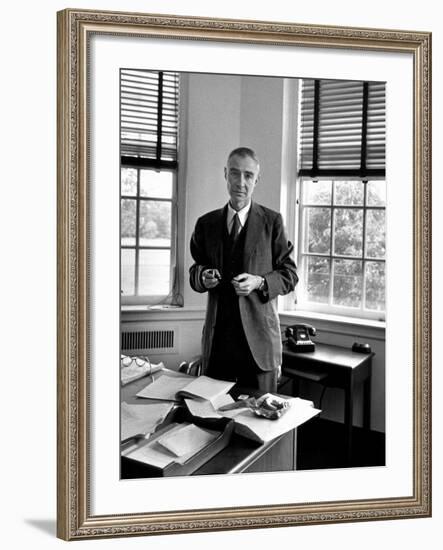
[[316,177],[384,177],[385,84],[302,82],[300,171]]

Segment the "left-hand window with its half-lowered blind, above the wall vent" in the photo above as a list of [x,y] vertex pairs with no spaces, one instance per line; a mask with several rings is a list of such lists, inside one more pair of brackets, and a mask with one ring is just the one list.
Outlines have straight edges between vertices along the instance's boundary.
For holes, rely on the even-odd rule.
[[179,303],[176,277],[178,74],[122,70],[123,303]]

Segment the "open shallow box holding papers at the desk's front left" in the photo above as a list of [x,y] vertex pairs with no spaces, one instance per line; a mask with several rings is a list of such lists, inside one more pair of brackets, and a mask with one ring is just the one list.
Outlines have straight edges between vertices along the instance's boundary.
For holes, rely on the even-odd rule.
[[[143,459],[131,458],[130,455],[135,451],[139,451],[144,446],[152,445],[158,442],[170,428],[172,423],[190,422],[196,426],[216,432],[216,437],[203,449],[197,451],[192,457],[183,463],[170,462],[165,466],[154,466],[146,463]],[[168,424],[165,423],[154,433],[149,439],[140,439],[126,446],[122,451],[121,456],[121,478],[134,479],[139,477],[170,477],[170,476],[186,476],[194,473],[208,460],[213,458],[222,449],[227,447],[230,442],[231,435],[234,431],[234,421],[228,418],[204,419],[196,418],[189,414],[183,407],[174,409],[172,415],[168,417]],[[128,455],[128,456],[126,456]],[[137,453],[140,456],[140,453]]]

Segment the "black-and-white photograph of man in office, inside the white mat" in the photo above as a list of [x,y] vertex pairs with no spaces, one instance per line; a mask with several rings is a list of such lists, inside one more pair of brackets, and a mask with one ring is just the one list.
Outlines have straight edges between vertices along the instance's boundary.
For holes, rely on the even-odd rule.
[[385,82],[119,85],[121,479],[385,466]]

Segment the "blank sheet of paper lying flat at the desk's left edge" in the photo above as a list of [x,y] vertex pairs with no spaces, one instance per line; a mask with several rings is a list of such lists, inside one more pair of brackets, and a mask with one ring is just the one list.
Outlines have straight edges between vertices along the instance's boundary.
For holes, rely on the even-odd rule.
[[121,405],[121,440],[138,434],[153,433],[171,411],[173,403],[140,403]]

